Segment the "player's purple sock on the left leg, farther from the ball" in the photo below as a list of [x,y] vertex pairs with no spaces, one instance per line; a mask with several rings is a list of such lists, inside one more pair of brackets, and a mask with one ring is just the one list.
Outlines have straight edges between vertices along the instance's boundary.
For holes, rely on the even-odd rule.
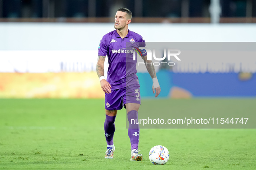
[[114,123],[115,120],[116,120],[116,116],[106,115],[104,130],[105,130],[107,145],[113,145],[113,137],[114,137],[114,132],[116,130],[115,123]]

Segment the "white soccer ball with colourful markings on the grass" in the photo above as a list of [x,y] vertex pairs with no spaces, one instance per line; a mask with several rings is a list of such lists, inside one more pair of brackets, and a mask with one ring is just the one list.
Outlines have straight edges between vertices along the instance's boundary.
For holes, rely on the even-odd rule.
[[153,164],[166,164],[169,160],[169,151],[162,145],[156,145],[149,151],[149,160]]

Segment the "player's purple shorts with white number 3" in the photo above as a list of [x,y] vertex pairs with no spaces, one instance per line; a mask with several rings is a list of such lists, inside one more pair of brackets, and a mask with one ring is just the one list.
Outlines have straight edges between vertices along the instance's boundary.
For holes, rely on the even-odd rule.
[[139,85],[112,90],[110,94],[105,93],[105,108],[107,110],[121,110],[127,103],[140,104]]

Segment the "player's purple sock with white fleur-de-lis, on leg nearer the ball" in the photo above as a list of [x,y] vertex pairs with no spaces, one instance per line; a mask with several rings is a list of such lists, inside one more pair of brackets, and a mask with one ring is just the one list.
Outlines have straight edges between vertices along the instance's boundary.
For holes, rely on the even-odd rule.
[[131,148],[138,150],[139,145],[139,124],[138,123],[138,112],[136,110],[132,110],[127,113],[129,128],[128,128],[128,136],[131,141]]

